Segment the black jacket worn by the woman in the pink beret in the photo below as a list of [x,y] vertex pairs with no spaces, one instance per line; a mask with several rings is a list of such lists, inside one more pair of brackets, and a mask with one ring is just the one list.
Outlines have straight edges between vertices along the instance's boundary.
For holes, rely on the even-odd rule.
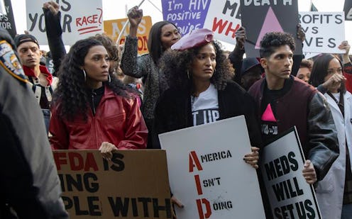
[[[251,145],[261,147],[258,116],[253,98],[235,82],[229,81],[218,91],[220,120],[244,115]],[[155,148],[160,148],[158,134],[193,126],[189,91],[167,89],[155,106]]]

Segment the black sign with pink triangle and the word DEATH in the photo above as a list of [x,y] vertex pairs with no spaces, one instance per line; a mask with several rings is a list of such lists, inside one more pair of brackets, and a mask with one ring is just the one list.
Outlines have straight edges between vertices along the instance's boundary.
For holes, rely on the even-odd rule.
[[241,21],[246,28],[247,57],[260,56],[260,40],[268,32],[291,33],[296,43],[295,54],[302,54],[302,42],[297,38],[297,0],[241,0]]

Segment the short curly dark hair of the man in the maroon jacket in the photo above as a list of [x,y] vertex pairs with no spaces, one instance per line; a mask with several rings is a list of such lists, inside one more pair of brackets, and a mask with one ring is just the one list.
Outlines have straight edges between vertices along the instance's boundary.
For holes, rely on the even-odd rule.
[[260,57],[269,57],[275,52],[277,47],[288,45],[292,52],[295,52],[295,38],[290,33],[270,32],[265,33],[260,41]]

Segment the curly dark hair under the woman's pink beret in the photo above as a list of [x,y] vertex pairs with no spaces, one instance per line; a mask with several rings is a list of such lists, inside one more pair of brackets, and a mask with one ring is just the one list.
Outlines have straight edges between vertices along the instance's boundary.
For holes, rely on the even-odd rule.
[[[227,80],[231,79],[233,68],[226,58],[221,44],[215,40],[211,42],[216,52],[216,67],[210,82],[216,89],[224,90]],[[167,50],[160,58],[160,67],[166,75],[170,88],[192,91],[192,75],[189,79],[187,71],[192,65],[192,60],[197,56],[203,46],[194,47],[185,51]]]

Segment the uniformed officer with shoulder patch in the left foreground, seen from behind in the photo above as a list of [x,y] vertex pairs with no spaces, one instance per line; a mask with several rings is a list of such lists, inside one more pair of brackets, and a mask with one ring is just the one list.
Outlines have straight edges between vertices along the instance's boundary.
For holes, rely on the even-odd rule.
[[0,40],[0,218],[69,218],[43,115],[3,28]]

